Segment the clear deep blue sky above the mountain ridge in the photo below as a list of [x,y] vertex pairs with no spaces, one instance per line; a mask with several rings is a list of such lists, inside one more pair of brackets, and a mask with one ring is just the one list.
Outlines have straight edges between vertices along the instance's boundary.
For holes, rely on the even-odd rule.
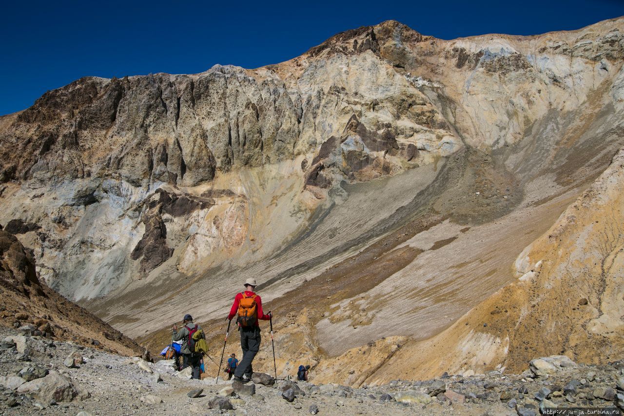
[[82,76],[258,67],[388,19],[453,39],[578,29],[624,15],[624,0],[9,1],[0,12],[0,114]]

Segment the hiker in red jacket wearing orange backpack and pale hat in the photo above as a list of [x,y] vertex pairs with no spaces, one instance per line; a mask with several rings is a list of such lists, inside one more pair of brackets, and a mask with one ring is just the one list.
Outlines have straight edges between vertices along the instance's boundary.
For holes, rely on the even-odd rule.
[[[256,289],[256,279],[245,281],[245,291],[236,294],[234,304],[227,319],[232,320],[237,315],[238,330],[240,331],[240,347],[243,350],[243,359],[234,371],[234,380],[238,382],[248,382],[253,374],[251,362],[260,350],[260,324],[258,319],[271,319],[271,312],[262,312],[262,300],[253,290]],[[245,375],[246,379],[243,379]]]

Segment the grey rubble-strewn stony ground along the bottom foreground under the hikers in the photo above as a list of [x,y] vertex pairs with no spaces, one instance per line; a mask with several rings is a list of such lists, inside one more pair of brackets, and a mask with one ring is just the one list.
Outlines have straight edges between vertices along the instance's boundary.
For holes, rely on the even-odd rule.
[[[523,374],[442,375],[352,389],[275,380],[189,380],[172,362],[147,362],[73,342],[0,329],[4,415],[427,414],[536,415],[551,407],[624,409],[624,362],[576,364],[556,355]],[[312,377],[313,379],[313,374]]]

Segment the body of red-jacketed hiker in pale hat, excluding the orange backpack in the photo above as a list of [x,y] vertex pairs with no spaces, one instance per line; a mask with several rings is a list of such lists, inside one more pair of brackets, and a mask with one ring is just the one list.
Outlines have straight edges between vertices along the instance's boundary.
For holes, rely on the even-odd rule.
[[[234,304],[232,305],[232,309],[230,309],[230,315],[228,315],[227,319],[232,320],[234,315],[238,312],[238,307],[240,305],[241,299],[243,299],[243,294],[245,297],[254,297],[256,301],[256,314],[257,319],[255,324],[250,326],[242,326],[239,322],[238,330],[240,331],[240,348],[243,350],[243,359],[240,360],[238,366],[236,366],[236,370],[234,372],[234,380],[238,382],[248,382],[251,380],[251,375],[253,374],[253,368],[251,367],[251,362],[255,358],[256,354],[260,350],[260,324],[258,324],[258,319],[260,320],[269,320],[271,319],[271,312],[268,314],[264,314],[262,310],[262,300],[260,296],[256,295],[253,291],[256,289],[256,279],[247,279],[245,280],[245,291],[236,294],[234,297]],[[245,379],[243,379],[243,375],[245,375]]]

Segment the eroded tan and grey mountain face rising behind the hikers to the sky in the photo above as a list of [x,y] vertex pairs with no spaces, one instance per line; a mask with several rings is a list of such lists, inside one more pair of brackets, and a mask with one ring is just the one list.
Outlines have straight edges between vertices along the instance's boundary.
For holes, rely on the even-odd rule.
[[80,79],[0,118],[0,223],[122,330],[220,316],[251,275],[283,316],[308,299],[301,357],[426,339],[623,146],[623,51],[624,19],[452,41],[388,21],[258,69]]

